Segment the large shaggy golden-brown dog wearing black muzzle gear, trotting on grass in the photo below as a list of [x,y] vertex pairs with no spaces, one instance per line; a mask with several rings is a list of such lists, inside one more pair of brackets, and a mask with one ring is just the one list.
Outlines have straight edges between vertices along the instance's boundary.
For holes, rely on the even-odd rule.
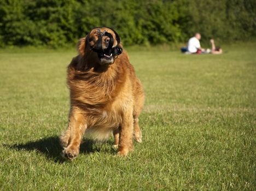
[[67,69],[71,107],[68,127],[60,137],[63,157],[78,156],[84,132],[97,140],[113,132],[120,156],[133,150],[133,138],[142,142],[138,116],[143,88],[122,50],[119,35],[107,27],[94,28],[80,39],[79,55]]

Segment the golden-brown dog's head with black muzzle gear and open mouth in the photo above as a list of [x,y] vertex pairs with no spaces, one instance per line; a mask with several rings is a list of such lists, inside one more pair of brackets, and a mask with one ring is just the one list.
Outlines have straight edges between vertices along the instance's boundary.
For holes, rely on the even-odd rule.
[[100,65],[113,64],[123,49],[117,32],[108,27],[96,27],[79,42],[79,53]]

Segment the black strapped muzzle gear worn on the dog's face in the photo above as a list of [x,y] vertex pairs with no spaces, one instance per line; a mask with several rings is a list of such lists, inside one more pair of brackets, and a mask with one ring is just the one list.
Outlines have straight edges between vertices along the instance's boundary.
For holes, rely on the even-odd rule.
[[[102,28],[102,27],[96,27],[96,28]],[[108,28],[108,27],[104,27],[104,28]],[[104,55],[111,55],[111,56],[115,57],[115,56],[120,55],[123,52],[123,49],[120,46],[120,37],[119,37],[118,33],[115,32],[114,29],[112,29],[112,28],[109,28],[109,29],[111,29],[115,33],[115,38],[117,39],[117,46],[113,47],[113,44],[114,44],[113,35],[108,33],[107,31],[101,32],[100,29],[97,29],[96,33],[98,35],[98,40],[97,40],[97,44],[93,45],[93,46],[90,45],[90,33],[93,29],[87,35],[87,39],[86,39],[87,43],[90,45],[90,48],[92,51],[95,51],[98,53],[99,57],[103,57]],[[103,49],[103,47],[102,47],[102,37],[103,36],[107,36],[109,38],[108,47],[106,49]]]

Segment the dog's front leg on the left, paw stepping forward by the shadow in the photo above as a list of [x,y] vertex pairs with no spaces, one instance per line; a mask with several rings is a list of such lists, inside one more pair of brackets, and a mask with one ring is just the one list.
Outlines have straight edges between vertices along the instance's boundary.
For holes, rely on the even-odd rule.
[[65,132],[69,134],[69,140],[67,147],[64,147],[64,150],[62,151],[63,157],[73,160],[78,156],[85,128],[86,120],[84,115],[80,113],[71,114],[69,117],[69,126]]

